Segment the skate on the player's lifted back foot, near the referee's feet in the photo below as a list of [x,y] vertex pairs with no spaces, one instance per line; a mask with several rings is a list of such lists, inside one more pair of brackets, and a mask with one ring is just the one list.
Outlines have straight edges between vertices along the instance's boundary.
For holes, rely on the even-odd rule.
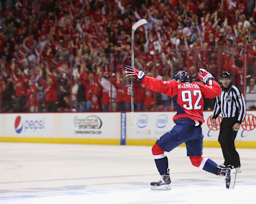
[[234,189],[236,183],[236,173],[237,170],[231,166],[231,168],[219,168],[218,175],[222,176],[226,180],[226,188],[227,189]]

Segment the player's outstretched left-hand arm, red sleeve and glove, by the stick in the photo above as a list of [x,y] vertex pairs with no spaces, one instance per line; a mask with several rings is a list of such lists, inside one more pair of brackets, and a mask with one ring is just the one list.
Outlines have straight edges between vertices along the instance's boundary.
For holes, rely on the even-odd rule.
[[162,81],[160,79],[149,77],[146,76],[143,71],[130,66],[125,66],[124,71],[125,76],[136,78],[137,81],[141,82],[142,85],[147,86],[152,91],[161,92],[169,96],[172,96],[173,94],[173,88],[176,85],[175,81]]

